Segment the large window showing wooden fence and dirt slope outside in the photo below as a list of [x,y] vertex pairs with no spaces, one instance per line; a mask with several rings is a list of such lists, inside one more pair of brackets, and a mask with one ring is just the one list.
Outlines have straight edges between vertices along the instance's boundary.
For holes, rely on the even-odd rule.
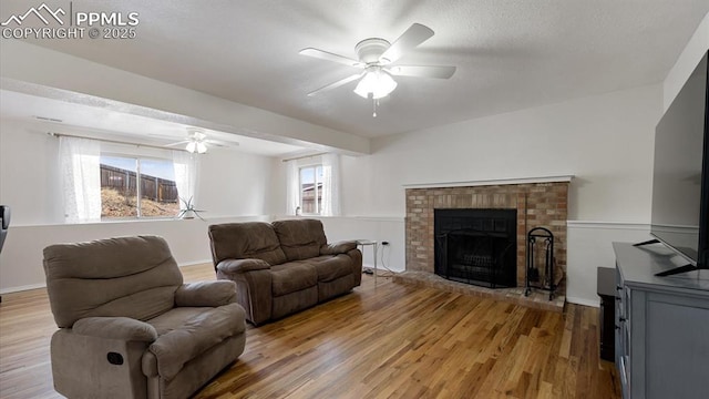
[[100,164],[102,219],[173,217],[179,213],[171,160],[102,154]]

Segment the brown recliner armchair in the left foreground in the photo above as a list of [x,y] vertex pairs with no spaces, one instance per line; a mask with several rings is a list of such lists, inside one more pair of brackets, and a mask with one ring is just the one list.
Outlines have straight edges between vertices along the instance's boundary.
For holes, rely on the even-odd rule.
[[70,398],[187,398],[244,351],[232,282],[183,284],[157,236],[44,248],[54,388]]

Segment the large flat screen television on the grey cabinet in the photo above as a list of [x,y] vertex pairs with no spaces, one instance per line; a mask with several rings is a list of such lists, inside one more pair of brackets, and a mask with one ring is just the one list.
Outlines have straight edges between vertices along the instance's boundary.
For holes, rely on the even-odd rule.
[[650,234],[687,264],[668,276],[709,268],[709,86],[701,61],[655,130]]

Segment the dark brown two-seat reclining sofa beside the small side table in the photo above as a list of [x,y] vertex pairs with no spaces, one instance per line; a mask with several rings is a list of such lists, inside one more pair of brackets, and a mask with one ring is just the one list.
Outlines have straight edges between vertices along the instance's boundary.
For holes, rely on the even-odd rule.
[[254,325],[338,295],[362,280],[357,242],[328,244],[317,219],[209,226],[218,279],[236,283],[237,301]]

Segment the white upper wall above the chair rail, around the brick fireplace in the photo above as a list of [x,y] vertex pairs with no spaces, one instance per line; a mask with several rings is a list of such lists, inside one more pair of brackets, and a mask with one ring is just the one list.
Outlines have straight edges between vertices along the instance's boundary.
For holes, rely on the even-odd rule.
[[345,208],[404,214],[407,183],[574,175],[569,219],[647,222],[659,85],[377,139],[348,158]]

